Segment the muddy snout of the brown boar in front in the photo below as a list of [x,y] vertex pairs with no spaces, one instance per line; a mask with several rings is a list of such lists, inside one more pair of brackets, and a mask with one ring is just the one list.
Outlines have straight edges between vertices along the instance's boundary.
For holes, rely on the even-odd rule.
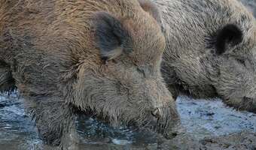
[[[178,121],[178,113],[175,107],[175,101],[166,89],[164,83],[154,80],[146,80],[145,84],[139,88],[145,95],[145,121],[142,127],[148,127],[158,133],[165,133],[167,128],[172,128],[172,124]],[[140,91],[141,91],[140,90]]]

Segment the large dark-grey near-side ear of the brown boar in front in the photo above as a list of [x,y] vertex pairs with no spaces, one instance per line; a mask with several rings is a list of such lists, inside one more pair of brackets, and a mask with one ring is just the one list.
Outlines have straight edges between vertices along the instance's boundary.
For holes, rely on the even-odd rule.
[[98,12],[94,16],[96,23],[96,44],[102,59],[116,58],[123,52],[123,43],[127,32],[119,20],[106,12]]

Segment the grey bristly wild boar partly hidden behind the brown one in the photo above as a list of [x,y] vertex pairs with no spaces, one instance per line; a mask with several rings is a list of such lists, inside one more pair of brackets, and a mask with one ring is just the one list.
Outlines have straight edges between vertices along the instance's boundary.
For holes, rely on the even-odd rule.
[[256,113],[256,21],[236,0],[155,0],[166,51],[162,72],[174,98],[222,98]]

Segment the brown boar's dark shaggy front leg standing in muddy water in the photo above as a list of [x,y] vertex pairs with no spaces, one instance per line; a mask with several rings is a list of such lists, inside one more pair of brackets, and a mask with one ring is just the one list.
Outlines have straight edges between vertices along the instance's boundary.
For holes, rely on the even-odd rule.
[[75,109],[59,97],[40,95],[25,98],[25,106],[38,128],[39,136],[47,145],[59,145],[61,149],[78,142],[75,131]]

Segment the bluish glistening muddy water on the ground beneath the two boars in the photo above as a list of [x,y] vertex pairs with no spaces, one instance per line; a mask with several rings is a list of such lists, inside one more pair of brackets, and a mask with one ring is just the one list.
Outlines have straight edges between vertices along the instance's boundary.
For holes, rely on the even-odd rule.
[[[24,112],[17,94],[0,96],[0,149],[56,149],[38,138],[34,122]],[[194,139],[238,133],[256,132],[256,115],[227,108],[220,100],[192,100],[179,97],[178,112],[187,135]],[[80,149],[158,149],[165,139],[154,133],[109,127],[93,118],[79,118]],[[255,141],[256,142],[256,141]],[[168,147],[167,147],[168,146]],[[166,149],[170,145],[166,145]]]

